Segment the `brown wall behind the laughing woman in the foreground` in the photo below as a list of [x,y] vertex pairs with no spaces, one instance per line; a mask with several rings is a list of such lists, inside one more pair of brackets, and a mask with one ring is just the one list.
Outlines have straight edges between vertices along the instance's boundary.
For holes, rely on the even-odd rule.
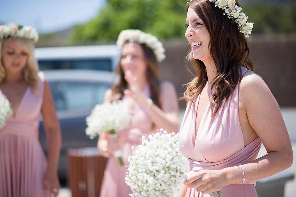
[[[250,56],[280,107],[296,107],[296,36],[253,36],[248,38]],[[174,83],[178,97],[192,79],[184,63],[190,46],[187,40],[163,42],[167,58],[161,63],[163,80]],[[185,101],[179,102],[180,109]]]

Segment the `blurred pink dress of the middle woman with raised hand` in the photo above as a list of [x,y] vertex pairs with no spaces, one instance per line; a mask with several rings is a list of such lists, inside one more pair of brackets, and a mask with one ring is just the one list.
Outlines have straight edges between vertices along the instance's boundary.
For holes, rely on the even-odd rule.
[[[143,93],[150,98],[150,88],[147,84],[143,89]],[[122,98],[122,102],[126,102],[126,97]],[[136,104],[133,109],[133,117],[131,123],[121,131],[118,131],[118,137],[121,139],[123,166],[120,166],[118,158],[110,157],[108,159],[104,172],[103,182],[101,186],[100,197],[129,197],[132,193],[130,187],[125,183],[127,172],[128,156],[132,155],[131,147],[141,144],[142,134],[153,133],[152,121],[146,110]]]

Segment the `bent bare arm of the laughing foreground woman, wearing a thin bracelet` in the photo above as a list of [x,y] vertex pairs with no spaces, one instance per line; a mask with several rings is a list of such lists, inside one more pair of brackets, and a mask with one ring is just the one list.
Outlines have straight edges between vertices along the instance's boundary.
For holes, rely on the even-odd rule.
[[[293,163],[291,142],[278,103],[269,88],[261,77],[249,74],[241,82],[240,94],[249,125],[267,151],[266,155],[242,165],[245,179],[263,179],[289,168]],[[232,167],[228,170],[230,173],[226,175],[237,174],[235,182],[240,183],[241,168]]]

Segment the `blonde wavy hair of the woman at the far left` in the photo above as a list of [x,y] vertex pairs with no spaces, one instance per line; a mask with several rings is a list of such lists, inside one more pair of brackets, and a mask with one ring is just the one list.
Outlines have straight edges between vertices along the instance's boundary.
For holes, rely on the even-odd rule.
[[6,40],[13,39],[17,45],[22,48],[28,54],[28,60],[23,68],[23,75],[25,78],[25,82],[31,86],[33,92],[38,94],[38,86],[39,86],[39,66],[36,58],[34,57],[34,42],[31,39],[25,38],[4,38],[0,39],[0,84],[3,82],[4,78],[6,78],[6,70],[4,67],[4,63],[2,61],[2,48]]

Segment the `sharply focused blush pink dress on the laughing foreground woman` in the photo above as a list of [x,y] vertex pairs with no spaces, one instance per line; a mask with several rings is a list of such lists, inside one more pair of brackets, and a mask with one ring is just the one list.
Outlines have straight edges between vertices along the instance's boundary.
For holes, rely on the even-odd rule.
[[[242,74],[252,72],[241,68]],[[259,152],[261,140],[254,139],[244,147],[244,139],[238,117],[238,86],[228,98],[224,106],[211,117],[211,107],[208,107],[196,130],[196,112],[199,96],[195,98],[195,107],[187,106],[180,128],[180,137],[183,142],[181,152],[189,160],[190,169],[220,170],[225,167],[239,166],[248,163]],[[196,133],[196,136],[195,136]],[[257,197],[256,181],[232,184],[223,187],[221,197]],[[195,189],[187,188],[185,197],[208,197]]]

